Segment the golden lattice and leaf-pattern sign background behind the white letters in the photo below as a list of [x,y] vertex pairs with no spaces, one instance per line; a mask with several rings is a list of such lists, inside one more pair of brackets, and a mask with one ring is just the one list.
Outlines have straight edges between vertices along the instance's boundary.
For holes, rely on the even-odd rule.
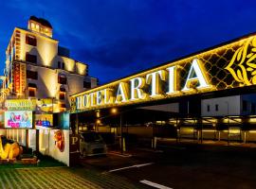
[[[110,82],[108,84],[101,85],[97,88],[82,92],[80,94],[74,94],[71,96],[71,112],[84,112],[95,109],[117,107],[129,104],[143,103],[148,101],[154,101],[159,99],[172,98],[189,94],[202,94],[211,91],[227,90],[237,87],[248,86],[256,84],[256,64],[254,63],[256,58],[256,36],[248,36],[246,38],[228,43],[216,48],[212,48],[208,51],[192,55],[191,57],[167,62],[166,64],[155,67],[151,70],[140,72],[133,76],[124,77],[119,80]],[[192,65],[192,60],[200,60],[202,71],[207,78],[210,88],[204,90],[191,90],[190,92],[183,92],[181,89],[186,83],[186,79],[189,75],[189,70]],[[175,94],[163,93],[159,97],[139,99],[137,101],[127,101],[119,104],[101,104],[100,106],[93,106],[83,110],[77,109],[77,97],[84,94],[97,93],[104,89],[112,89],[113,94],[117,94],[117,87],[120,82],[129,83],[132,78],[145,77],[146,75],[166,70],[171,66],[177,66],[176,75],[176,88]],[[194,84],[194,83],[192,83]],[[195,83],[195,86],[198,83]],[[167,91],[168,83],[161,81],[159,86],[163,91]],[[143,91],[147,94],[150,92],[150,87],[145,86]]]

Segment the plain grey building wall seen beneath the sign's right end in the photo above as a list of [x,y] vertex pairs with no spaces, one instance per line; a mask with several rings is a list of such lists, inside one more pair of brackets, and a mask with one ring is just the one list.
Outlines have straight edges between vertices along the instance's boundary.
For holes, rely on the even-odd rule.
[[[218,111],[215,110],[216,105],[218,106]],[[208,111],[208,106],[210,106],[210,111]],[[202,99],[201,115],[202,116],[239,115],[241,114],[240,106],[241,106],[240,95]]]

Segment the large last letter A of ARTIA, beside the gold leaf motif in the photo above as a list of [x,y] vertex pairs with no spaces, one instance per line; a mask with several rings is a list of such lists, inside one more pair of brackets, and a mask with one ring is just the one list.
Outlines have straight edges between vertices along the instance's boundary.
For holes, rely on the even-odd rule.
[[190,91],[191,90],[191,83],[192,81],[197,81],[199,84],[196,87],[196,89],[202,89],[202,88],[208,88],[210,85],[207,82],[206,77],[204,76],[204,73],[202,72],[202,69],[200,67],[199,60],[195,59],[192,60],[191,69],[189,71],[189,75],[186,79],[184,88],[181,90],[183,92]]

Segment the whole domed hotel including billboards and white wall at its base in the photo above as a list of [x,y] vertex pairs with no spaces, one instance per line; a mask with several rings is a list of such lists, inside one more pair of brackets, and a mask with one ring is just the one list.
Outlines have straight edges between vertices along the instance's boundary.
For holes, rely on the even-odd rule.
[[35,16],[27,28],[14,28],[1,77],[0,135],[68,165],[69,96],[96,87],[98,79],[52,35],[50,23]]

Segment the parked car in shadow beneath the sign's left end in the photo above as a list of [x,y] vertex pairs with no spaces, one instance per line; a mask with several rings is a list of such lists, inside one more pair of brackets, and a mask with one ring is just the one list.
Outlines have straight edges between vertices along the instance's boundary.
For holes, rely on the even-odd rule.
[[80,152],[83,157],[106,155],[107,147],[101,137],[101,134],[95,131],[81,132]]

